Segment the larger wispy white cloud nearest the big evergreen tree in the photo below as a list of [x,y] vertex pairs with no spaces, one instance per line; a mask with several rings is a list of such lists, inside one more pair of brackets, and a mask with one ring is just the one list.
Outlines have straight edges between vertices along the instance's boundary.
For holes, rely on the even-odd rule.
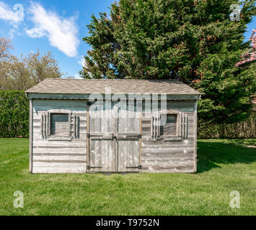
[[79,39],[75,17],[59,17],[56,12],[47,12],[43,6],[32,3],[30,6],[32,22],[35,27],[27,29],[26,33],[30,37],[48,37],[50,45],[57,47],[69,57],[77,55]]

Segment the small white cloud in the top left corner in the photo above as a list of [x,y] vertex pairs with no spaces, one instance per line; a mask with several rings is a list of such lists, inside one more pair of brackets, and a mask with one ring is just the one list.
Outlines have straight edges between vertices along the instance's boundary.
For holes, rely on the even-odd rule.
[[11,23],[14,27],[17,27],[18,22],[22,21],[23,18],[21,19],[19,12],[14,12],[7,4],[0,1],[0,19]]

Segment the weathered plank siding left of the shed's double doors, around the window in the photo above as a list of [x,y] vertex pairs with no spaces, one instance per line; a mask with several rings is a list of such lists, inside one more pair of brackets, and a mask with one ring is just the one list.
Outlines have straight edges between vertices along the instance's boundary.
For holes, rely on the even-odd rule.
[[[41,116],[53,109],[68,109],[78,117],[71,116],[71,136],[75,136],[79,123],[79,139],[53,140],[41,134]],[[87,101],[33,100],[33,173],[84,173],[87,169]]]

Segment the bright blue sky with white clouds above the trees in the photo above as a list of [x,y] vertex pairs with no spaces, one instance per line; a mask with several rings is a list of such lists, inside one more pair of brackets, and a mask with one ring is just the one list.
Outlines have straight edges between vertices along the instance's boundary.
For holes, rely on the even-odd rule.
[[[0,37],[12,39],[14,55],[27,55],[37,48],[40,52],[50,50],[66,77],[77,76],[82,56],[89,49],[81,40],[88,35],[86,25],[92,14],[98,17],[100,12],[109,12],[112,2],[114,0],[0,0]],[[19,14],[22,7],[23,21]],[[245,40],[249,40],[255,28],[256,17],[248,25]]]

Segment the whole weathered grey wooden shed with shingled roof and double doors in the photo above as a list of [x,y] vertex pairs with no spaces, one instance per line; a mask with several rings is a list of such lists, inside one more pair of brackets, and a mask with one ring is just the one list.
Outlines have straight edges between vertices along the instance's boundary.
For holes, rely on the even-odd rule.
[[177,80],[47,78],[30,98],[30,172],[195,172],[200,93]]

